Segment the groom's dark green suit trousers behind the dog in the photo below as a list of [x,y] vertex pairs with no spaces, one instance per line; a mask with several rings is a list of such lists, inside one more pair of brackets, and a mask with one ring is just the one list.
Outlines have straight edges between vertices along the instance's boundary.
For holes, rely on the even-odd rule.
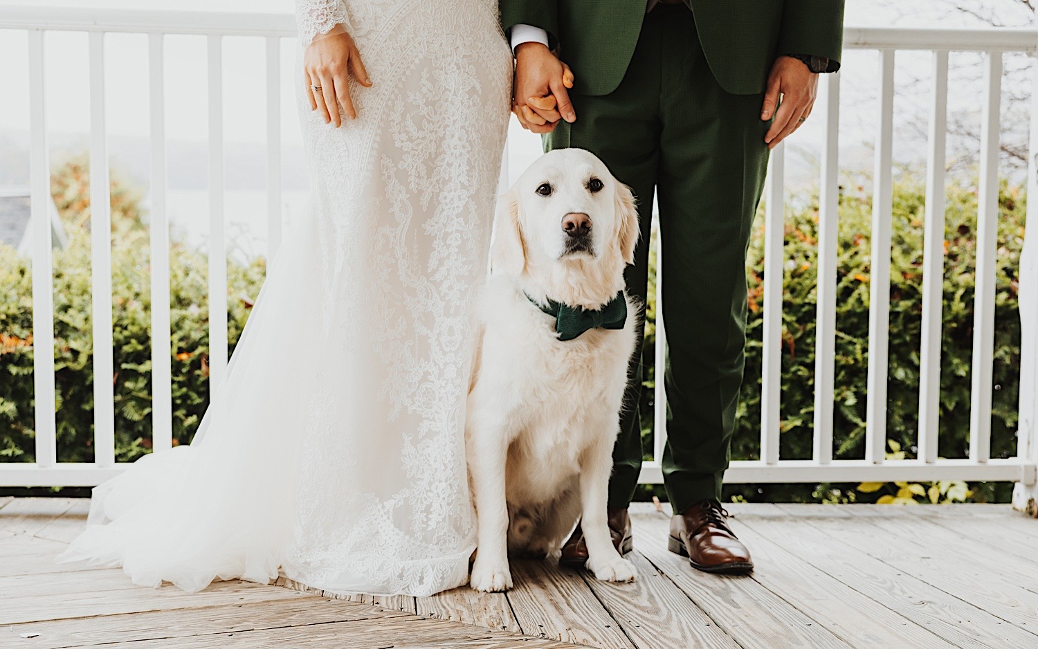
[[[617,89],[596,97],[574,92],[576,121],[559,123],[544,140],[549,151],[591,151],[634,191],[641,240],[626,279],[630,295],[643,302],[657,197],[667,339],[662,464],[677,512],[720,496],[744,364],[746,248],[768,160],[763,96],[723,90],[699,43],[691,11],[658,5],[645,17]],[[613,452],[614,508],[630,503],[641,467],[640,360],[640,354],[632,359]]]

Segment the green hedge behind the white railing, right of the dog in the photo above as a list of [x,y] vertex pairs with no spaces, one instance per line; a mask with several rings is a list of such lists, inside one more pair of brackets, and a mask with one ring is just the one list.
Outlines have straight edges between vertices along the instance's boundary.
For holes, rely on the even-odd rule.
[[[804,209],[787,209],[786,213],[781,413],[781,456],[784,459],[810,459],[812,456],[817,196],[814,201]],[[953,186],[948,188],[947,202],[938,453],[940,457],[963,458],[969,453],[977,195],[969,188]],[[904,454],[904,457],[914,457],[918,439],[924,207],[924,187],[921,184],[896,184],[887,383],[887,443],[892,456]],[[999,207],[991,455],[1011,457],[1016,454],[1020,351],[1016,273],[1023,244],[1025,200],[1017,188],[1004,185]],[[842,188],[839,214],[834,458],[849,459],[865,456],[871,196],[861,185]],[[747,261],[749,318],[745,380],[732,448],[732,458],[740,460],[758,459],[760,452],[763,218],[759,218],[757,224]],[[653,295],[652,291],[650,295]],[[652,303],[649,304],[649,314],[650,317],[655,314]],[[650,366],[654,342],[655,331],[649,327],[644,357]],[[651,388],[654,384],[651,367],[645,379],[645,385]],[[644,391],[641,405],[645,448],[651,449],[651,389]],[[983,486],[975,495],[993,497],[992,488]],[[736,485],[727,489],[733,496],[748,499],[849,498],[871,502],[900,491],[901,487],[880,490],[866,487],[856,493],[848,493],[846,487],[838,490],[824,485],[821,488],[815,485]],[[1006,494],[1002,493],[999,497],[1004,498]]]

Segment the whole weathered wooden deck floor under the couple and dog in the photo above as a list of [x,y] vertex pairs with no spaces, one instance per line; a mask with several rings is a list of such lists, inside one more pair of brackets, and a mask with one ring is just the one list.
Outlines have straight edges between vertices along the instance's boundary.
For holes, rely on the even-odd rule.
[[331,597],[284,579],[186,594],[54,564],[86,510],[0,497],[0,646],[1038,647],[1038,520],[1007,506],[734,505],[752,577],[692,570],[666,550],[667,517],[640,506],[634,584],[523,562],[507,595],[418,599]]

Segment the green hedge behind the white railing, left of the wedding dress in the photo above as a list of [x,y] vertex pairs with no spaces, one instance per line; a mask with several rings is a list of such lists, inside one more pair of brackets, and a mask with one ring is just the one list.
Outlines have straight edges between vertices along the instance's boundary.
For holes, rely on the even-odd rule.
[[[70,233],[54,251],[54,355],[58,459],[93,459],[93,367],[89,188],[82,159],[55,170],[52,194]],[[151,448],[151,297],[147,229],[140,195],[112,181],[112,319],[115,454],[132,460]],[[263,282],[266,262],[227,264],[230,349]],[[208,258],[170,249],[174,443],[191,440],[209,404]],[[32,277],[28,259],[0,244],[0,461],[33,461]],[[274,351],[272,350],[272,353]]]

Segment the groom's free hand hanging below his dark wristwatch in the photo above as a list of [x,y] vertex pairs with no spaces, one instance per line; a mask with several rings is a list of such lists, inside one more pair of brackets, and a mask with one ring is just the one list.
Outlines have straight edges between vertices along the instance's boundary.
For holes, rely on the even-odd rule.
[[[774,148],[790,133],[800,128],[815,105],[817,89],[818,75],[811,72],[803,61],[792,56],[780,56],[775,59],[771,74],[768,75],[764,105],[761,107],[761,119],[770,119],[772,114],[775,116],[771,128],[764,135],[768,148]],[[780,94],[782,105],[778,105]],[[775,106],[778,106],[777,112]]]

